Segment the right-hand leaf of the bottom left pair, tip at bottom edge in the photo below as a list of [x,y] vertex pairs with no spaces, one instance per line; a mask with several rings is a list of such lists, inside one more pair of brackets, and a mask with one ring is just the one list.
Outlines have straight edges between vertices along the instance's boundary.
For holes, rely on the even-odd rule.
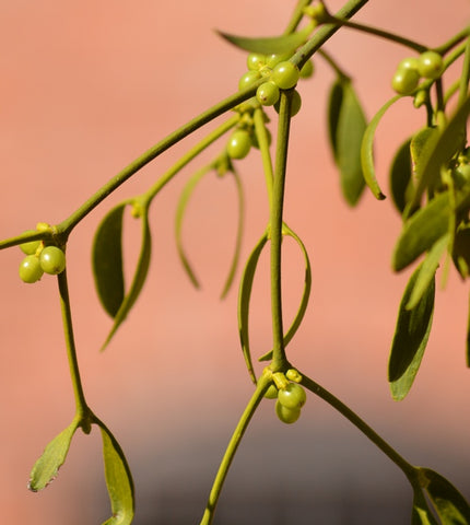
[[99,421],[103,459],[113,517],[103,525],[130,525],[134,514],[133,482],[122,448]]

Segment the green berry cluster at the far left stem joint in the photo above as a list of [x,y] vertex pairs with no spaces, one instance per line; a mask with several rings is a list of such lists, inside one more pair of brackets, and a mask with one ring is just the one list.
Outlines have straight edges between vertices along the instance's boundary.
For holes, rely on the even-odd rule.
[[66,268],[66,254],[58,246],[44,246],[42,241],[32,241],[21,244],[20,248],[26,254],[19,268],[23,282],[36,282],[44,273],[57,276]]

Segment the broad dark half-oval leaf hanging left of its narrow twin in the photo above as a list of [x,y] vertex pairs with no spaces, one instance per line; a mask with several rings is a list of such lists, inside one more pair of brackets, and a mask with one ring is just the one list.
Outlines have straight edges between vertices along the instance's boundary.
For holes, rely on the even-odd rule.
[[122,214],[126,203],[121,202],[109,211],[96,230],[93,241],[95,287],[103,307],[111,317],[116,316],[125,296]]

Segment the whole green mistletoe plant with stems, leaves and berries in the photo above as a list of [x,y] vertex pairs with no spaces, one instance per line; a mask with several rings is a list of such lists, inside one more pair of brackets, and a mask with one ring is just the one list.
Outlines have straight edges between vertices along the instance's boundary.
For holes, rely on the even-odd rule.
[[[430,337],[439,265],[443,264],[444,278],[451,266],[462,279],[470,275],[470,149],[467,147],[470,27],[465,27],[440,46],[430,48],[403,36],[353,22],[353,15],[366,3],[367,0],[349,0],[333,14],[328,2],[299,0],[282,35],[247,38],[221,33],[221,37],[247,55],[247,70],[228,97],[144,152],[62,222],[56,225],[40,222],[35,230],[0,243],[2,249],[20,246],[24,252],[19,270],[24,282],[35,283],[44,273],[57,276],[66,350],[75,397],[72,422],[46,446],[33,467],[31,490],[45,488],[57,475],[78,429],[89,434],[96,425],[103,438],[105,477],[113,511],[111,517],[105,523],[125,525],[132,522],[134,494],[130,467],[111,431],[86,402],[82,387],[69,298],[67,245],[75,226],[145,164],[224,115],[225,120],[219,127],[208,131],[145,192],[129,197],[107,211],[93,241],[97,295],[111,318],[104,349],[131,312],[145,283],[152,259],[151,205],[162,188],[177,177],[185,166],[197,161],[210,145],[220,143],[219,153],[211,162],[195,170],[195,175],[181,192],[176,210],[175,236],[183,266],[198,287],[190,256],[181,240],[185,211],[195,188],[208,173],[233,177],[238,196],[238,231],[233,261],[222,292],[224,296],[236,276],[244,226],[239,161],[251,150],[259,155],[266,179],[269,221],[245,261],[238,283],[240,348],[254,383],[254,393],[221,460],[200,523],[208,525],[213,521],[223,482],[258,406],[270,402],[265,399],[275,399],[273,410],[281,422],[291,424],[302,416],[308,390],[309,395],[320,397],[357,427],[402,470],[414,494],[411,510],[413,524],[470,524],[469,504],[447,479],[430,468],[414,466],[400,456],[351,408],[310,378],[306,371],[298,370],[287,354],[287,346],[303,322],[312,289],[307,248],[287,225],[283,205],[291,119],[302,108],[296,86],[314,74],[313,57],[325,60],[336,73],[327,109],[329,138],[342,192],[351,206],[359,202],[367,187],[378,200],[385,198],[376,178],[373,154],[375,132],[384,114],[402,97],[409,97],[414,106],[412,110],[422,108],[422,128],[411,137],[403,137],[406,140],[389,171],[392,202],[402,218],[401,233],[392,254],[392,268],[400,271],[420,259],[406,287],[391,341],[388,381],[395,399],[403,399],[416,377]],[[366,33],[371,38],[390,40],[404,48],[403,59],[397,65],[391,79],[396,95],[385,102],[371,121],[365,118],[351,77],[327,49],[328,40],[342,27]],[[445,89],[445,78],[454,62],[459,65],[460,74],[456,82]],[[127,211],[139,221],[141,228],[140,254],[128,285],[122,269],[122,223]],[[283,320],[281,293],[281,248],[284,237],[292,237],[296,243],[305,264],[302,300],[289,327]],[[250,299],[258,261],[267,249],[270,254],[272,347],[265,349],[258,358],[266,362],[266,366],[257,376],[248,329]],[[469,345],[467,359],[470,362]]]

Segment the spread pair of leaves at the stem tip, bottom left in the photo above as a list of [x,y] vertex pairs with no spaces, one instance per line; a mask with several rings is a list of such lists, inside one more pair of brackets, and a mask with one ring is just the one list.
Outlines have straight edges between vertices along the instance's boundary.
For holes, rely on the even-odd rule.
[[[106,487],[113,511],[113,516],[103,525],[129,525],[134,513],[133,482],[129,466],[111,432],[97,418],[94,418],[94,422],[102,431]],[[31,471],[30,490],[37,492],[56,478],[80,424],[80,418],[74,418],[72,423],[46,446]]]

